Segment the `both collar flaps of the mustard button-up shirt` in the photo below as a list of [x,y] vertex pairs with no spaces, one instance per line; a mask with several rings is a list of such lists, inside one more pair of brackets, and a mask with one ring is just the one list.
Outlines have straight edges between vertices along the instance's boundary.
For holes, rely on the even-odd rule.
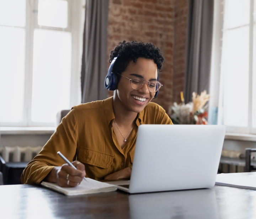
[[[107,118],[107,124],[109,125],[110,122],[115,118],[114,111],[113,111],[113,96],[104,100],[104,108],[105,108],[105,113]],[[137,126],[139,126],[140,124],[144,124],[143,116],[144,116],[144,110],[138,113],[138,117],[136,119]]]

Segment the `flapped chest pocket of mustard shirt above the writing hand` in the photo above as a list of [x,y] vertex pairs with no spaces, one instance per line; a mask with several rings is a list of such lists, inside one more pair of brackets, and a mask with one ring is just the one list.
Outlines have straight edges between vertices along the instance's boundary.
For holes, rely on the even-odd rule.
[[102,180],[113,170],[114,155],[81,147],[78,159],[85,164],[86,177]]

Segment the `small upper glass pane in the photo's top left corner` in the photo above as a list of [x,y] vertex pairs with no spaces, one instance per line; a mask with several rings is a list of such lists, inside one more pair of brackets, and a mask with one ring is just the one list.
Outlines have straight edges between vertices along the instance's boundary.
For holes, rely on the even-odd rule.
[[0,25],[25,27],[26,0],[0,0]]

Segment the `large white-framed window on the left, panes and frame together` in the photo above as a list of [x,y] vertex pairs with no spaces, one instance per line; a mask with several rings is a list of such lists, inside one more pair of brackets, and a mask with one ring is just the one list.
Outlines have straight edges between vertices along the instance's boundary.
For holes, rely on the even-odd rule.
[[81,102],[83,4],[0,0],[1,126],[54,126]]

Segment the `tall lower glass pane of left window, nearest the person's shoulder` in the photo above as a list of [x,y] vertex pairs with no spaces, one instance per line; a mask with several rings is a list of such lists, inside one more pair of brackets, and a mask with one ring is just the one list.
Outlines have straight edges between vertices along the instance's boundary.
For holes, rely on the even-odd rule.
[[54,123],[70,108],[70,77],[71,33],[34,30],[32,122]]

